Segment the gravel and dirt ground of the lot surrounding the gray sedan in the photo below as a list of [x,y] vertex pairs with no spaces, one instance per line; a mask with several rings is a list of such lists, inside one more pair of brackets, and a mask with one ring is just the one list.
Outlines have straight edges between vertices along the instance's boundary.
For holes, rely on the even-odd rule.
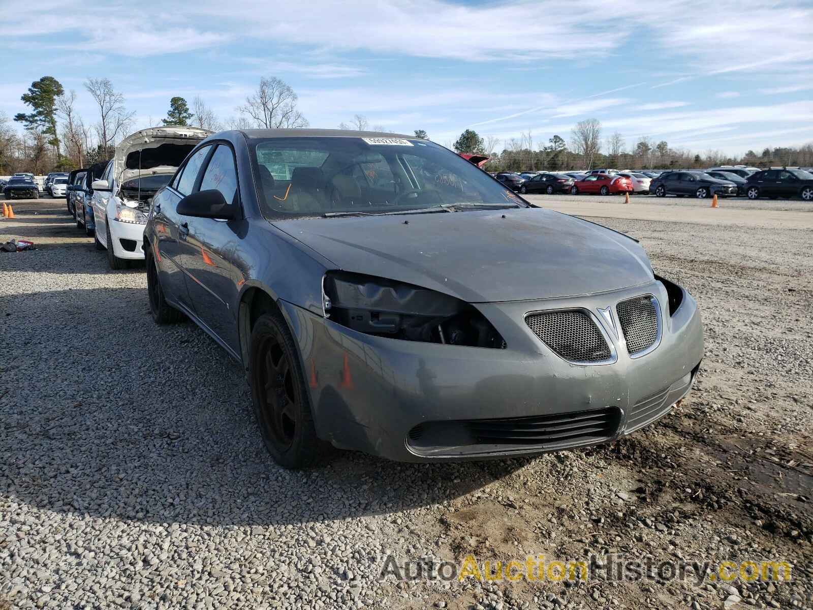
[[[707,206],[678,201],[646,198]],[[0,242],[40,249],[0,253],[0,610],[813,608],[810,221],[591,218],[640,239],[702,308],[698,384],[650,429],[533,460],[339,453],[290,473],[263,448],[239,366],[191,323],[153,324],[143,268],[111,272],[63,200],[14,207]],[[780,559],[793,580],[379,579],[389,554],[468,553]]]

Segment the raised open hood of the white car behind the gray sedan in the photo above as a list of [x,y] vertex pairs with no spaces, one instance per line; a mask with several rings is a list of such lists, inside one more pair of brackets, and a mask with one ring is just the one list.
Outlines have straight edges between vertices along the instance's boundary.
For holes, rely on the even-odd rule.
[[209,137],[200,127],[150,127],[131,133],[115,147],[113,176],[118,184],[138,176],[174,173],[198,142]]

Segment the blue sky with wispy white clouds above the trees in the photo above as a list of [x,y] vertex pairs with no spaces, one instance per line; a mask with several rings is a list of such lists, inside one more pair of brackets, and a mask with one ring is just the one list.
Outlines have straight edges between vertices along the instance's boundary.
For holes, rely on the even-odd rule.
[[813,142],[811,2],[86,2],[3,0],[0,111],[31,81],[111,79],[159,123],[169,98],[221,119],[278,76],[313,127],[354,114],[453,142],[475,129],[534,142],[595,117],[632,146],[646,136],[732,154]]

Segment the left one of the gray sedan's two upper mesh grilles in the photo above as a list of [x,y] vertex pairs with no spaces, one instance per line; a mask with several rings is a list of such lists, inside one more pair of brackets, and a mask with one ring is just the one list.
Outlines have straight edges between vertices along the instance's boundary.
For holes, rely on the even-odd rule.
[[610,346],[585,312],[541,312],[525,318],[533,333],[551,350],[571,362],[602,362],[610,359]]

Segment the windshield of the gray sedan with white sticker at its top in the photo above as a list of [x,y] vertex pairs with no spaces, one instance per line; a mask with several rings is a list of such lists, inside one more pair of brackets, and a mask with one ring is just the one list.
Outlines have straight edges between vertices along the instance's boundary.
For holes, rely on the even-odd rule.
[[341,216],[526,207],[475,165],[433,142],[386,137],[250,140],[263,213]]

